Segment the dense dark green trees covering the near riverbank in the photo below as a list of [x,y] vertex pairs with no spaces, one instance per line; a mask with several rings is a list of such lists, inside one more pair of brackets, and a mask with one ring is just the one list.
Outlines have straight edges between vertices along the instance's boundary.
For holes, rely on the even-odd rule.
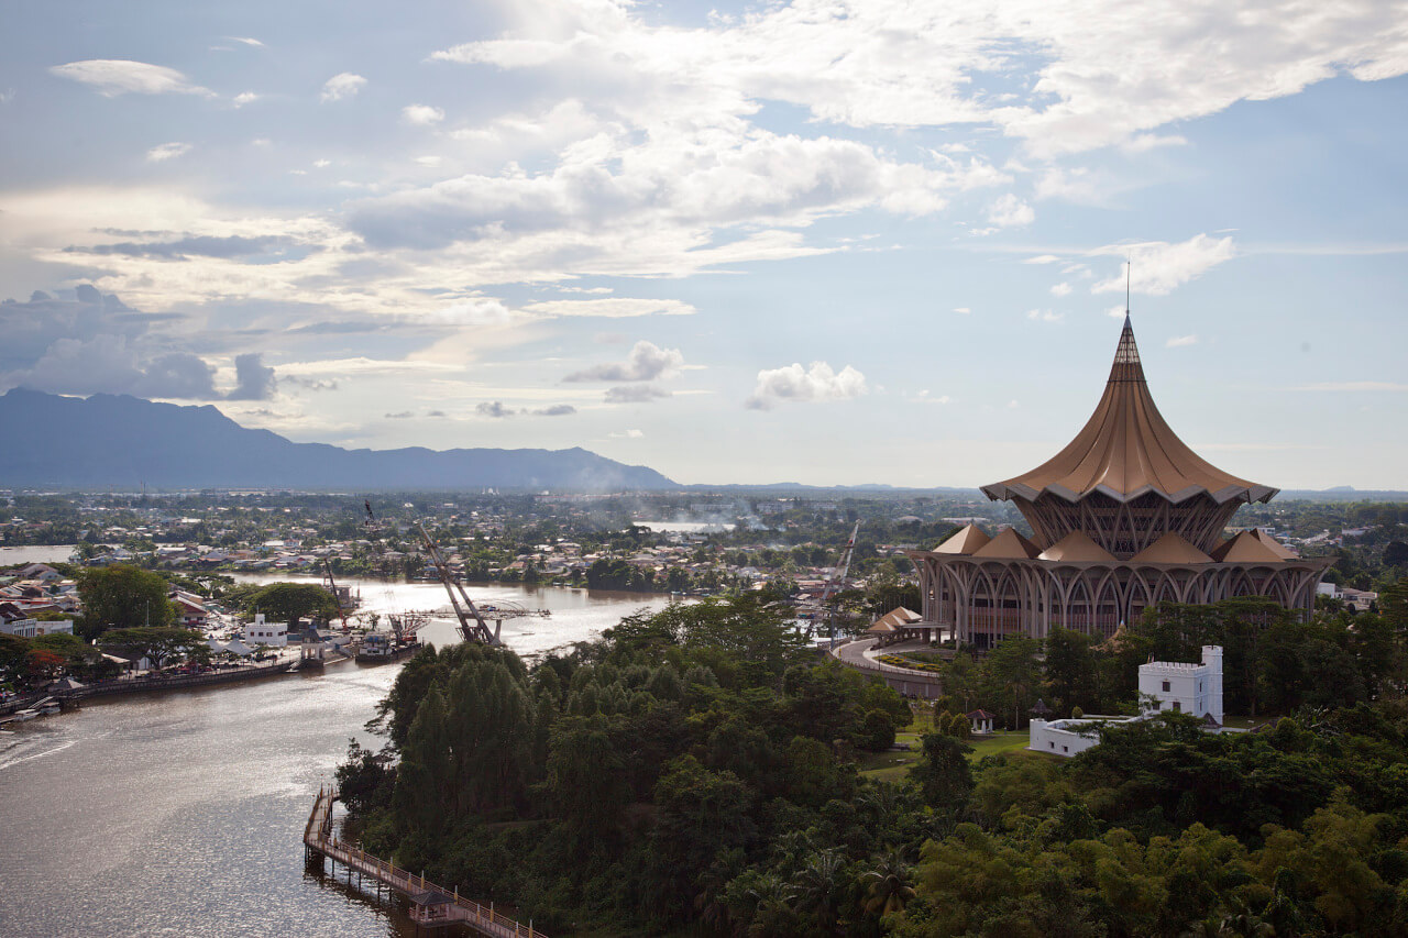
[[[711,600],[532,668],[425,649],[382,704],[386,748],[338,782],[366,849],[549,934],[1402,934],[1400,611],[1164,608],[1112,646],[960,655],[969,690],[926,710],[818,663],[766,596]],[[1256,732],[1167,714],[1059,761],[943,713],[1129,708],[1126,665],[1212,641],[1229,704],[1278,714]],[[917,748],[893,772],[897,730]]]

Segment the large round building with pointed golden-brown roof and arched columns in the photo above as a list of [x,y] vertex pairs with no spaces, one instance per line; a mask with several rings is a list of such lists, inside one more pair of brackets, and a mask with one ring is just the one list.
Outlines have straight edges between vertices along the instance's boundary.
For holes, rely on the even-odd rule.
[[1104,394],[1074,439],[983,492],[1012,501],[1031,539],[970,524],[932,551],[907,551],[924,597],[917,625],[979,646],[1053,627],[1110,637],[1163,601],[1269,596],[1309,613],[1332,562],[1302,559],[1264,531],[1224,535],[1238,507],[1278,490],[1178,439],[1149,393],[1128,314]]

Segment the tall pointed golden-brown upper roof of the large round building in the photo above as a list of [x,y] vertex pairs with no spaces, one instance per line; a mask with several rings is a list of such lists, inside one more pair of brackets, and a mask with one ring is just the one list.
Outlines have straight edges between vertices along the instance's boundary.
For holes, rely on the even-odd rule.
[[1129,501],[1156,492],[1173,503],[1207,493],[1218,504],[1270,501],[1278,492],[1222,472],[1188,449],[1169,428],[1149,393],[1135,332],[1125,315],[1105,393],[1084,428],[1031,472],[983,486],[993,500],[1035,501],[1043,492],[1079,501],[1101,492]]

